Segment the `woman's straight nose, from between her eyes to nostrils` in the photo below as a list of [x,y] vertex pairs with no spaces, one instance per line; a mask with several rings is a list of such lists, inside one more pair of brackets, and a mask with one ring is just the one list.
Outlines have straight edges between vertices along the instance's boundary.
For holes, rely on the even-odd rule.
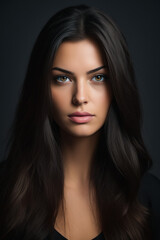
[[73,93],[72,102],[75,105],[81,105],[88,102],[87,97],[87,83],[81,79],[75,83],[75,89]]

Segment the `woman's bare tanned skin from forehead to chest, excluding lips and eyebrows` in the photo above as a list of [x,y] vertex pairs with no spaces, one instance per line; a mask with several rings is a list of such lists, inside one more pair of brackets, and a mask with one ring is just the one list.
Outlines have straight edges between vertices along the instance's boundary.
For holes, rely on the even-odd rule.
[[[107,68],[90,74],[87,72],[104,65],[98,46],[89,39],[62,43],[52,65],[53,119],[60,127],[67,220],[63,225],[60,207],[54,228],[71,240],[93,239],[102,231],[94,191],[88,184],[89,168],[100,129],[107,118],[112,92]],[[74,75],[55,68],[65,69]],[[106,77],[96,77],[98,74]],[[75,123],[68,114],[76,111],[89,112],[94,117],[87,123]]]

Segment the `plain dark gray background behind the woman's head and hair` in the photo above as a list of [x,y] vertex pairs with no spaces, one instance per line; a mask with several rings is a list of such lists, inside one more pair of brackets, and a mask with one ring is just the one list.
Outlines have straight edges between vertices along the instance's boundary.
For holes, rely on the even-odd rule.
[[23,0],[0,3],[0,160],[37,35],[58,10],[86,3],[103,10],[124,33],[133,60],[144,125],[142,134],[160,178],[160,4],[157,0]]

